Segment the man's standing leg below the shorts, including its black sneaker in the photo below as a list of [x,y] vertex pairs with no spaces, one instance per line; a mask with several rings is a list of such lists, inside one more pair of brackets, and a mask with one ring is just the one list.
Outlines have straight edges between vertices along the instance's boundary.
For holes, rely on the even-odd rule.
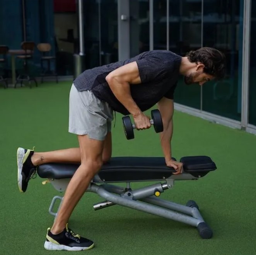
[[78,136],[81,164],[70,180],[60,210],[52,228],[48,228],[44,248],[46,250],[88,250],[94,242],[76,235],[68,228],[68,220],[90,181],[102,166],[104,141]]

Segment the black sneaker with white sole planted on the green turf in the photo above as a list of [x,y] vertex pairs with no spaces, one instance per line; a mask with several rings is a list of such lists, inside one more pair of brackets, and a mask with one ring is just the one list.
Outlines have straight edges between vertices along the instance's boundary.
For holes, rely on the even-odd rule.
[[53,235],[48,228],[44,248],[48,251],[82,251],[94,247],[94,242],[76,235],[66,224],[66,228],[58,235]]

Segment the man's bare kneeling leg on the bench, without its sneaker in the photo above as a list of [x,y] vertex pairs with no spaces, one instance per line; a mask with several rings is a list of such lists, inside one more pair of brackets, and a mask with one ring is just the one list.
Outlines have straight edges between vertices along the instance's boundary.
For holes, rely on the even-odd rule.
[[[111,157],[112,141],[111,132],[106,135],[103,149],[103,162],[108,162]],[[34,152],[31,157],[32,164],[39,166],[46,163],[80,163],[81,154],[80,148],[70,148],[64,150]]]

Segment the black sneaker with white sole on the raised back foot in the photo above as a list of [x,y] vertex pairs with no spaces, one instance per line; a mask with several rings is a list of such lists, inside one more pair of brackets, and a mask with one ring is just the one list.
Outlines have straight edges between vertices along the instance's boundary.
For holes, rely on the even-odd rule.
[[31,162],[33,154],[34,150],[24,148],[18,148],[17,150],[18,185],[20,192],[27,190],[29,180],[36,173],[36,166]]

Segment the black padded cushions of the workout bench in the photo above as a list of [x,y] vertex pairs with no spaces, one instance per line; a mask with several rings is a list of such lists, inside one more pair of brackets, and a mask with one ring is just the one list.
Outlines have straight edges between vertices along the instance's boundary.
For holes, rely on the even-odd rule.
[[[181,162],[184,171],[196,177],[216,169],[215,163],[207,156],[183,157]],[[41,178],[64,179],[71,178],[78,167],[79,164],[51,163],[39,166],[37,172]],[[102,166],[98,175],[106,182],[118,182],[167,179],[173,172],[175,170],[166,166],[163,157],[113,157]]]

